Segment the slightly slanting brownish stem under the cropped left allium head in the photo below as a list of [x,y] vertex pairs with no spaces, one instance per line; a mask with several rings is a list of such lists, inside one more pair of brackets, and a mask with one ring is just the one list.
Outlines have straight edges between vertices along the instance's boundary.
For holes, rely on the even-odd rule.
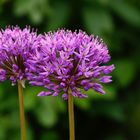
[[26,140],[26,127],[25,127],[24,101],[23,101],[23,87],[22,87],[20,81],[18,81],[18,96],[19,96],[19,109],[20,109],[21,140]]

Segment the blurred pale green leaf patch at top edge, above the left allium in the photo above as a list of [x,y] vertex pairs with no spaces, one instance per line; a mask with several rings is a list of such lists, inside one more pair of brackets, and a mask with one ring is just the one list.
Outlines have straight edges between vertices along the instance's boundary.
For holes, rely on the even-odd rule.
[[16,0],[14,3],[15,15],[27,15],[34,24],[41,23],[50,12],[48,0]]

